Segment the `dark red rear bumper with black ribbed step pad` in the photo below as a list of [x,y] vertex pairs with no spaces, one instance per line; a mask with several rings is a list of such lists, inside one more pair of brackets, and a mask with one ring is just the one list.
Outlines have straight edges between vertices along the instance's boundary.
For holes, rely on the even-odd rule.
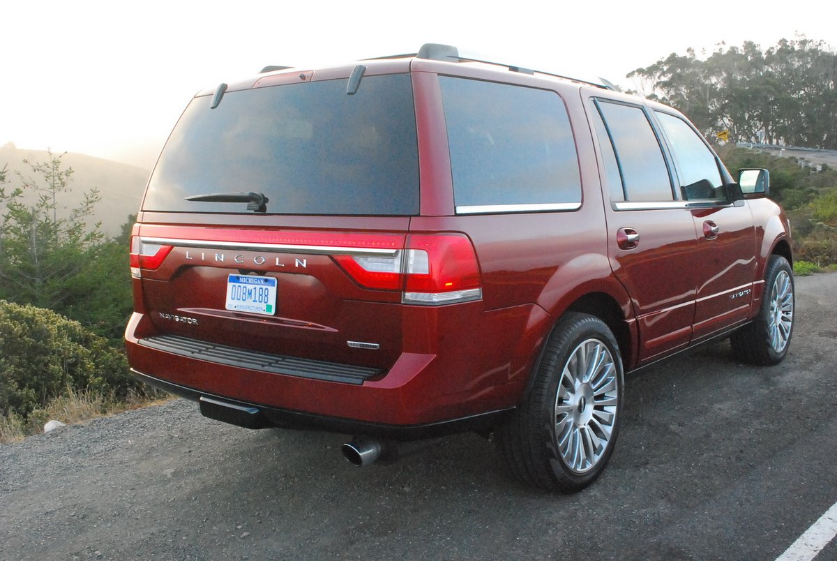
[[472,348],[403,352],[388,370],[362,373],[360,367],[160,337],[142,313],[131,317],[125,342],[131,368],[146,382],[188,399],[259,409],[248,426],[424,438],[485,428],[518,403],[521,388],[521,380],[510,381],[508,367],[480,375],[472,357],[485,351]]

